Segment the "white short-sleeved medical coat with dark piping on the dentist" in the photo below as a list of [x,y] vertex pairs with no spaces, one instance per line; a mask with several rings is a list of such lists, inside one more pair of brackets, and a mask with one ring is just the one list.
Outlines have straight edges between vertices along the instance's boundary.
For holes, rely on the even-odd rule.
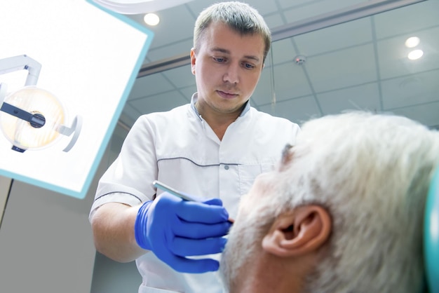
[[[191,104],[140,116],[121,153],[100,179],[90,214],[104,203],[139,205],[151,200],[159,180],[177,190],[221,198],[231,218],[255,177],[273,169],[285,144],[294,144],[299,126],[259,112],[247,103],[220,141]],[[219,254],[209,256],[219,259]],[[217,273],[178,273],[152,252],[136,259],[140,293],[219,293]]]

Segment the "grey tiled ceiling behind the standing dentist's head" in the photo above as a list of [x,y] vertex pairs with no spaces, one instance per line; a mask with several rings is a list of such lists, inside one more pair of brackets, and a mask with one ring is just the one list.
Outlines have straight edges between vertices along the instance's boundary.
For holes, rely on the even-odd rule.
[[[161,22],[157,27],[149,28],[155,35],[144,67],[189,56],[196,16],[215,2],[194,0],[159,11]],[[347,13],[347,19],[353,19],[361,15],[358,11],[364,11],[363,8],[371,4],[407,3],[360,0],[245,2],[257,8],[278,39],[276,33],[284,27],[297,28],[311,23],[309,20],[340,16],[356,8],[355,13]],[[379,9],[385,7],[389,6],[381,5]],[[142,15],[129,17],[142,23]],[[343,19],[346,18],[338,17],[335,21]],[[300,30],[292,29],[295,36],[273,42],[261,81],[251,98],[253,107],[297,123],[346,109],[367,109],[400,114],[438,127],[439,0],[421,1],[323,29],[305,27],[302,30],[309,32],[302,34]],[[410,36],[421,39],[418,47],[424,50],[424,56],[420,60],[407,59],[409,49],[404,43]],[[306,61],[297,64],[297,55],[305,56]],[[141,114],[167,111],[189,102],[195,91],[195,79],[187,63],[142,76],[135,81],[120,122],[130,127]],[[273,102],[274,97],[276,102]]]

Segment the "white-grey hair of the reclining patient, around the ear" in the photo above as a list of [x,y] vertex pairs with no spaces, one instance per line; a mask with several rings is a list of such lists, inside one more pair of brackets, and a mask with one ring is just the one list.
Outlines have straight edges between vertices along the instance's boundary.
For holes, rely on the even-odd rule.
[[248,214],[257,225],[245,236],[254,243],[248,249],[279,215],[317,204],[331,214],[332,235],[304,292],[421,292],[424,205],[439,166],[439,132],[401,116],[351,112],[304,123],[289,151],[292,163],[271,186],[276,197]]

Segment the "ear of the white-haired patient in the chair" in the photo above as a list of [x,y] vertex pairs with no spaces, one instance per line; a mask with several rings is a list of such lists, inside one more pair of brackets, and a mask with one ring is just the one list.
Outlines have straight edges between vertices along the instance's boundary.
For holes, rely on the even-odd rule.
[[278,217],[262,239],[262,247],[278,257],[297,257],[321,247],[331,230],[331,217],[325,208],[304,205]]

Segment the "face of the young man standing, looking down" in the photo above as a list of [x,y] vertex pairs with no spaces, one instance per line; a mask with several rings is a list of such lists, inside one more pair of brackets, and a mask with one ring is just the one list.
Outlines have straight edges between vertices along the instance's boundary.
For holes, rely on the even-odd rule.
[[240,112],[261,76],[264,39],[240,34],[221,22],[205,29],[191,50],[198,101],[219,114]]

